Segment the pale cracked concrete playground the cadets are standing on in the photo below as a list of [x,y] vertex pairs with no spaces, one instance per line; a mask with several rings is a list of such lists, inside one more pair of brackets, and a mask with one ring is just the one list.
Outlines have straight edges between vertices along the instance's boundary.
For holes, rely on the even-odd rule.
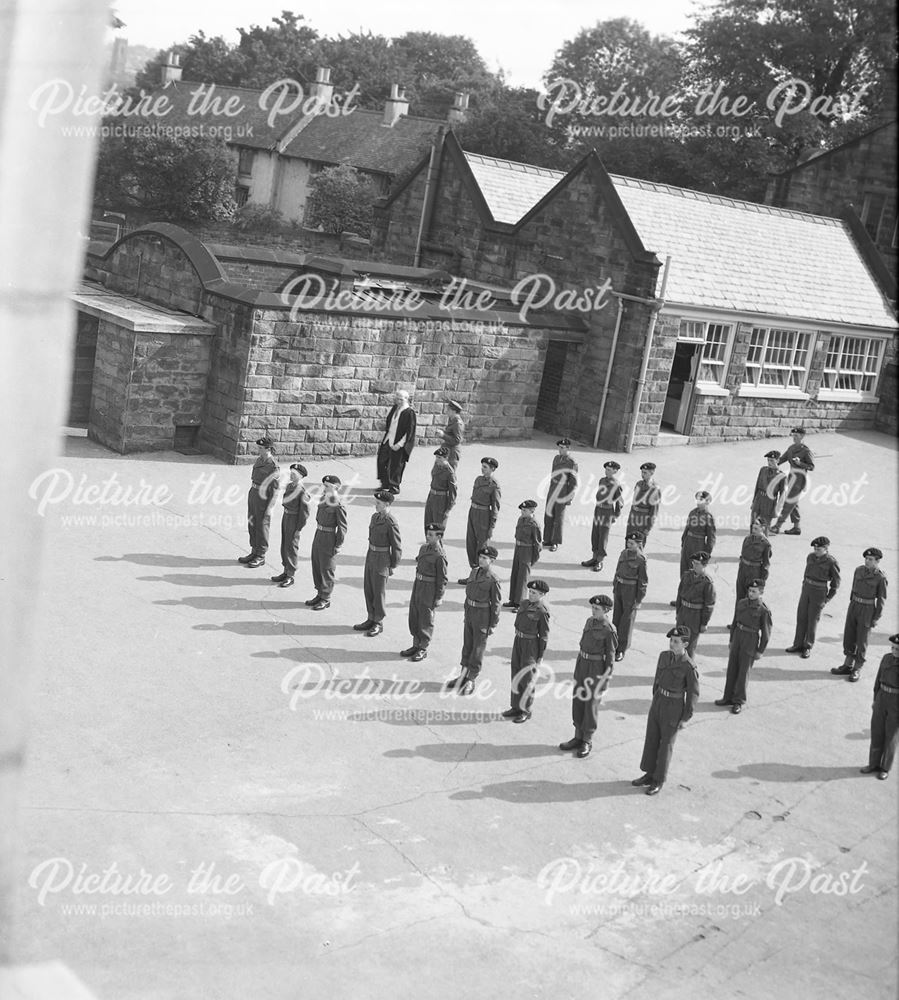
[[[533,718],[508,707],[513,615],[475,695],[457,672],[464,533],[482,455],[499,461],[494,544],[506,599],[518,503],[539,499],[554,441],[465,446],[449,518],[450,584],[422,663],[406,608],[423,540],[430,448],[394,504],[403,560],[377,638],[362,567],[374,457],[307,461],[352,483],[332,606],[314,613],[309,548],[282,590],[280,506],[248,570],[249,468],[122,457],[67,437],[31,484],[43,517],[43,673],[26,772],[16,960],[59,959],[98,1000],[886,1000],[897,988],[897,778],[867,763],[871,688],[899,628],[896,441],[812,435],[802,535],[772,539],[768,653],[739,716],[723,691],[734,580],[762,455],[788,436],[616,456],[669,487],[647,549],[649,591],[616,665],[592,755],[572,735],[571,678],[588,598],[611,594],[625,518],[601,573],[589,552],[605,455],[575,442],[582,490],[544,552],[552,610]],[[306,461],[304,459],[304,461]],[[286,465],[286,463],[285,463]],[[639,776],[651,681],[697,489],[714,496],[716,612],[697,652],[701,700],[668,783]],[[542,523],[542,503],[538,510]],[[808,660],[786,654],[803,566],[830,537],[843,584]],[[861,681],[833,677],[853,569],[883,549],[894,588]],[[612,554],[614,553],[614,555]],[[37,571],[38,560],[35,559]]]

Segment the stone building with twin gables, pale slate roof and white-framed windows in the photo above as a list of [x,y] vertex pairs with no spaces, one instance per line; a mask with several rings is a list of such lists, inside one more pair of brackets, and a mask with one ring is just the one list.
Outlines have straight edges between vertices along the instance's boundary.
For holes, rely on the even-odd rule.
[[568,173],[497,160],[450,133],[380,207],[372,248],[519,299],[541,275],[544,309],[585,321],[550,345],[538,428],[629,450],[894,419],[889,275],[851,215],[613,176],[595,153]]

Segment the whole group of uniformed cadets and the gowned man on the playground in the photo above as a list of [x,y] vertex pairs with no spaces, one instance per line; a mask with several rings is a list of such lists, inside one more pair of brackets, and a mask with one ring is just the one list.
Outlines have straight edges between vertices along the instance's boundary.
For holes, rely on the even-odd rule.
[[[447,519],[457,499],[456,468],[464,440],[462,406],[448,400],[450,419],[444,431],[445,446],[434,451],[431,483],[424,509],[425,544],[416,556],[415,581],[409,601],[409,632],[412,644],[401,656],[420,662],[428,655],[434,636],[435,611],[447,587],[447,557],[443,535]],[[366,617],[353,628],[368,637],[383,631],[387,580],[402,558],[399,525],[391,514],[391,504],[399,493],[407,446],[414,440],[415,417],[408,395],[398,393],[387,419],[384,441],[378,455],[382,488],[375,491],[374,513],[368,529],[363,593]],[[733,714],[747,703],[750,669],[767,649],[772,630],[771,609],[764,602],[765,583],[772,558],[769,533],[776,534],[789,518],[787,535],[801,534],[799,499],[806,487],[806,474],[814,469],[814,458],[805,444],[805,430],[794,427],[793,444],[783,454],[766,453],[753,494],[749,534],[743,539],[736,578],[736,605],[727,625],[729,655],[724,692],[715,704]],[[251,551],[238,561],[249,568],[263,565],[268,550],[271,511],[280,488],[280,472],[270,438],[257,442],[259,456],[253,465],[247,498],[247,527]],[[509,583],[509,599],[502,603],[500,581],[493,571],[497,550],[490,544],[496,527],[502,493],[495,474],[499,463],[489,456],[481,459],[481,472],[472,485],[466,530],[469,573],[458,582],[465,587],[464,626],[459,675],[446,687],[459,695],[471,695],[481,673],[487,639],[498,627],[501,608],[515,613],[512,646],[510,707],[503,718],[524,723],[531,718],[537,674],[547,649],[550,611],[545,602],[549,584],[532,578],[544,549],[555,552],[563,542],[565,511],[578,487],[578,465],[572,458],[571,442],[557,442],[544,511],[543,530],[536,519],[537,502],[524,500],[515,526],[515,550]],[[411,448],[409,448],[411,450]],[[786,473],[780,466],[787,465]],[[611,526],[621,516],[624,494],[619,475],[621,466],[609,460],[604,466],[595,497],[592,553],[581,565],[593,572],[603,568],[608,556]],[[634,622],[646,596],[648,576],[644,549],[656,522],[661,490],[654,480],[656,466],[640,466],[633,500],[628,511],[624,549],[618,556],[612,596],[590,598],[590,617],[580,639],[572,690],[574,736],[559,744],[577,757],[589,756],[596,732],[599,706],[609,686],[616,662],[624,659],[631,643]],[[383,475],[382,475],[383,473]],[[290,466],[290,478],[283,494],[281,520],[281,561],[283,571],[272,580],[280,587],[295,582],[299,537],[309,521],[312,504],[304,485],[307,470],[300,463]],[[347,531],[347,514],[341,499],[341,481],[335,475],[322,478],[322,493],[315,506],[315,534],[311,549],[315,594],[306,601],[313,611],[330,606],[335,583],[336,558]],[[715,610],[715,587],[708,564],[716,542],[715,518],[709,510],[711,496],[699,492],[696,505],[687,515],[681,535],[680,584],[675,600],[675,625],[667,633],[668,649],[659,654],[652,685],[652,704],[646,724],[641,769],[632,782],[646,786],[655,795],[664,785],[677,733],[690,720],[699,699],[699,673],[694,662],[700,635],[706,631]],[[778,505],[780,512],[778,514]],[[776,520],[775,520],[776,518]],[[824,606],[840,587],[840,567],[830,554],[830,540],[821,535],[811,542],[796,608],[796,629],[788,653],[807,659],[815,644],[816,628]],[[843,632],[844,661],[831,673],[850,682],[859,680],[868,649],[870,632],[883,614],[887,579],[880,569],[883,553],[868,548],[864,564],[853,573],[849,606]],[[871,743],[868,765],[863,773],[887,777],[899,740],[899,634],[890,636],[891,651],[881,660],[874,681]]]

